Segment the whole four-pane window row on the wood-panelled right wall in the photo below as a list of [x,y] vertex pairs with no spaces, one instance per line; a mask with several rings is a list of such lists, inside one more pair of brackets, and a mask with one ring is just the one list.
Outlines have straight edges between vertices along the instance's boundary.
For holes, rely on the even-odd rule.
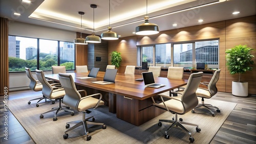
[[219,40],[139,46],[140,49],[140,60],[147,61],[148,66],[193,68],[203,62],[206,68],[219,68]]

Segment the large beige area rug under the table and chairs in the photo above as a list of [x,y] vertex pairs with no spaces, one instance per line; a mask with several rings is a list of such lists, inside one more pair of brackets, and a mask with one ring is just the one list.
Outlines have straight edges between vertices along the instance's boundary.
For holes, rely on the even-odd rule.
[[[30,99],[32,98],[10,100],[8,107],[36,143],[189,143],[189,135],[180,127],[170,130],[168,132],[170,138],[165,139],[164,133],[170,124],[162,123],[162,127],[157,125],[158,119],[172,119],[174,114],[165,112],[137,127],[116,118],[116,114],[108,112],[106,106],[90,109],[92,112],[87,114],[87,117],[94,115],[96,122],[104,123],[106,129],[102,129],[101,126],[89,126],[92,136],[90,141],[86,141],[82,127],[70,131],[69,138],[63,139],[66,123],[81,119],[82,114],[75,112],[75,115],[71,116],[70,112],[60,112],[57,116],[58,121],[52,120],[54,113],[44,114],[44,118],[39,118],[40,113],[57,107],[58,102],[54,105],[41,103],[39,107],[36,107],[35,102],[27,104]],[[179,116],[184,122],[198,124],[201,128],[201,132],[198,133],[195,127],[184,125],[195,138],[194,143],[209,143],[237,105],[208,99],[205,103],[219,107],[221,112],[215,112],[215,117],[213,117],[202,108],[196,113],[188,112]]]

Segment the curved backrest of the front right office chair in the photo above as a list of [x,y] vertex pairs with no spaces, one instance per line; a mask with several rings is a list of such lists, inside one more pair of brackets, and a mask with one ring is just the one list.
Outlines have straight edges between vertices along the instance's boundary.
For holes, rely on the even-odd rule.
[[181,101],[184,106],[183,114],[192,110],[193,108],[195,108],[198,105],[196,91],[197,91],[198,86],[202,80],[202,77],[203,77],[202,71],[199,73],[190,74],[188,81],[187,81],[187,86],[181,95]]

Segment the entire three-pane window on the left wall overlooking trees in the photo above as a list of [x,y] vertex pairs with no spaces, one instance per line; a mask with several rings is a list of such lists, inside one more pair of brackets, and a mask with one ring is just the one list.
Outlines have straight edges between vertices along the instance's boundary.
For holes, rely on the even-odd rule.
[[73,42],[18,36],[9,36],[8,38],[10,72],[25,71],[25,67],[30,67],[31,70],[52,70],[52,65],[65,65],[66,69],[75,67],[75,45]]

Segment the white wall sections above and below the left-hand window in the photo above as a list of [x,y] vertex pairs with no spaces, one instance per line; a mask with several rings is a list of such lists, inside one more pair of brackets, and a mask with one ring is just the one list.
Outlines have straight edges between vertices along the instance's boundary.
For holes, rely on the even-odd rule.
[[[9,35],[44,38],[51,40],[61,40],[73,42],[76,38],[76,32],[53,29],[48,27],[42,27],[37,25],[31,25],[23,22],[10,21],[9,22]],[[67,71],[72,73],[74,71]],[[52,74],[52,71],[47,71],[45,74]],[[32,73],[36,78],[35,73]],[[9,73],[9,90],[28,89],[30,80],[26,73]]]

